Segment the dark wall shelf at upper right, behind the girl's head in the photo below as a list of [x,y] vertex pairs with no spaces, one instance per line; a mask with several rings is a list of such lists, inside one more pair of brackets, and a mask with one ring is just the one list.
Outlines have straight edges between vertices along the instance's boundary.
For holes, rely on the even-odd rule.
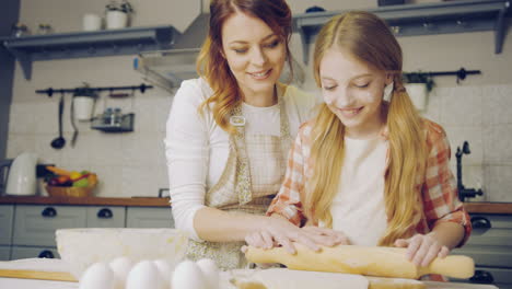
[[[464,0],[424,4],[403,4],[366,9],[384,19],[396,36],[433,35],[494,31],[494,53],[500,54],[507,34],[510,0]],[[293,16],[301,34],[303,60],[307,63],[310,44],[322,25],[347,11],[312,12]]]

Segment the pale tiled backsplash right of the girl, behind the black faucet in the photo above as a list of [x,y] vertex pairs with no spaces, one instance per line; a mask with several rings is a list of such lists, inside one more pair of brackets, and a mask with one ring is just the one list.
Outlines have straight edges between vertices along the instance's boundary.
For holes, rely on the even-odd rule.
[[424,116],[441,124],[455,152],[465,140],[470,154],[464,154],[463,183],[480,188],[475,200],[512,201],[512,85],[456,86],[434,89]]

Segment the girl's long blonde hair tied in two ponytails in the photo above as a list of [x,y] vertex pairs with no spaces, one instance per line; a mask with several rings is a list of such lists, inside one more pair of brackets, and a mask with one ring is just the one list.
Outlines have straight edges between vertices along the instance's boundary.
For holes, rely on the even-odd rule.
[[[418,176],[427,162],[422,119],[402,81],[402,48],[384,21],[368,12],[348,12],[333,18],[319,32],[314,51],[314,76],[321,86],[319,63],[329,48],[342,48],[357,59],[393,73],[394,90],[387,107],[388,169],[384,175],[387,230],[380,245],[409,236],[422,213]],[[383,102],[384,104],[384,102]],[[344,161],[345,127],[323,104],[312,130],[314,172],[306,187],[305,211],[314,222],[333,224],[330,206],[338,193]]]

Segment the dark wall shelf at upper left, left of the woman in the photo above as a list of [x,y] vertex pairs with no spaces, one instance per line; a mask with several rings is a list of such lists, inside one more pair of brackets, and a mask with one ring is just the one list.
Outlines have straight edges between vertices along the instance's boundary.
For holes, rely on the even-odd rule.
[[37,60],[136,55],[170,49],[179,37],[173,26],[128,27],[97,32],[56,33],[0,38],[20,62],[25,79]]

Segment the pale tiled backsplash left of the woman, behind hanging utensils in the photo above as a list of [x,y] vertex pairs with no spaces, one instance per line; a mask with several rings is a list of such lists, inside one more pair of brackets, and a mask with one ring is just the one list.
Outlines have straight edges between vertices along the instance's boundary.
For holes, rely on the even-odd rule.
[[[137,83],[137,82],[136,82]],[[139,80],[140,83],[140,80]],[[56,97],[57,96],[57,97]],[[8,158],[23,151],[36,152],[39,162],[55,163],[67,170],[90,170],[97,173],[97,196],[158,196],[159,188],[168,187],[163,139],[172,96],[160,89],[146,94],[136,93],[118,103],[107,100],[107,106],[123,107],[135,113],[135,131],[107,134],[90,128],[90,123],[75,122],[79,136],[71,147],[71,95],[66,95],[63,114],[65,148],[55,150],[50,142],[58,135],[57,100],[45,95],[11,104]],[[105,106],[105,95],[96,103],[96,113]],[[39,188],[40,194],[45,194]]]

